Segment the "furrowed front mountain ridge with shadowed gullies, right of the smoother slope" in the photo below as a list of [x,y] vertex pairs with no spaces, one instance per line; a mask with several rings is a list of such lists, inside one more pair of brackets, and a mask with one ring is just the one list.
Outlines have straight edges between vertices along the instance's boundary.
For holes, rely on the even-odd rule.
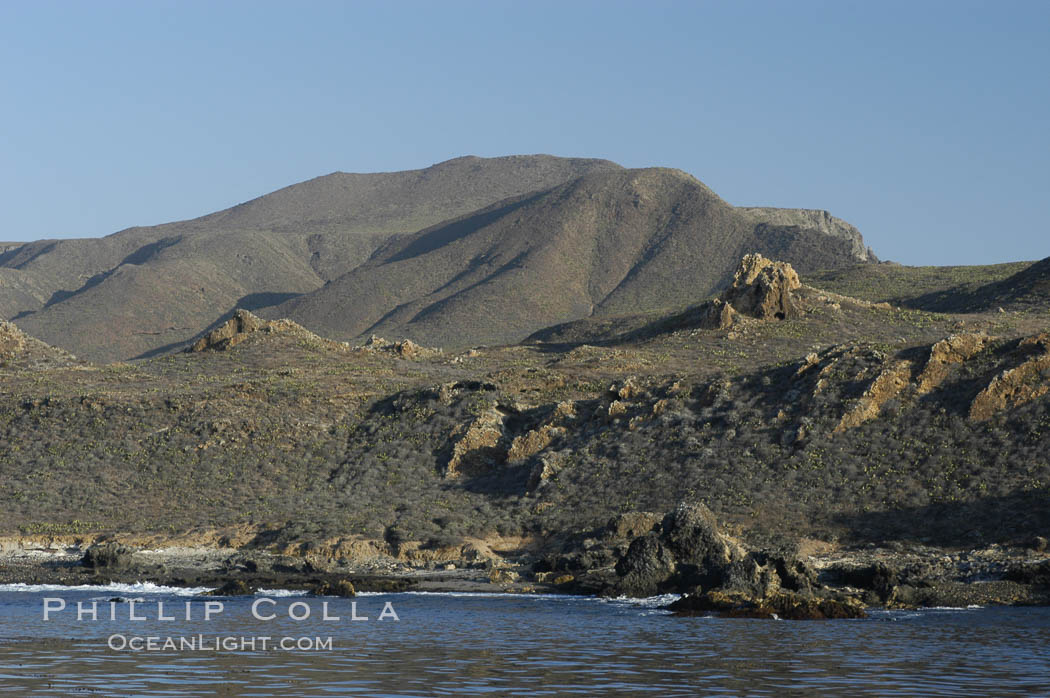
[[705,298],[749,252],[805,271],[867,259],[853,238],[760,217],[678,170],[596,172],[392,240],[265,314],[345,339],[512,343],[560,322]]

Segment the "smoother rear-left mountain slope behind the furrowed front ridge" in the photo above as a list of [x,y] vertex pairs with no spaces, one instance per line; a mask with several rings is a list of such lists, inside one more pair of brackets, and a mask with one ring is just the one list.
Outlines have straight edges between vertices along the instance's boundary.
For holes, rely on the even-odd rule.
[[15,246],[0,252],[0,316],[92,360],[163,352],[234,308],[321,287],[392,235],[616,169],[608,161],[522,155],[337,172],[192,220]]

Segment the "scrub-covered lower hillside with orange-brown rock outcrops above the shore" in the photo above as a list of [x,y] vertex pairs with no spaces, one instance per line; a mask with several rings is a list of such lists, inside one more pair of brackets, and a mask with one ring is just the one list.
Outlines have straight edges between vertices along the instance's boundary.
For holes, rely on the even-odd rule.
[[1050,530],[1050,321],[1002,315],[758,256],[600,344],[350,346],[242,312],[135,364],[0,364],[0,528],[550,549],[687,500],[749,545],[1023,544]]

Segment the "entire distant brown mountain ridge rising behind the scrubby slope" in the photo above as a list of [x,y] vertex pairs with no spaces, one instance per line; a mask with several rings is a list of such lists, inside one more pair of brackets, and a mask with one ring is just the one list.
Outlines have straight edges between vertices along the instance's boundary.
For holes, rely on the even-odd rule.
[[237,308],[335,340],[455,348],[685,308],[753,252],[803,274],[877,261],[826,211],[735,208],[678,170],[471,156],[337,172],[104,238],[0,244],[0,317],[99,362],[182,348]]

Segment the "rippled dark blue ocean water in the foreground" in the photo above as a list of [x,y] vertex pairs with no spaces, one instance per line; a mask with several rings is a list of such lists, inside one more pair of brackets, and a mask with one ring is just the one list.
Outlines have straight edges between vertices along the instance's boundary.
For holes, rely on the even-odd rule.
[[0,693],[1050,694],[1046,608],[796,622],[674,617],[657,608],[673,597],[198,591],[0,586]]

